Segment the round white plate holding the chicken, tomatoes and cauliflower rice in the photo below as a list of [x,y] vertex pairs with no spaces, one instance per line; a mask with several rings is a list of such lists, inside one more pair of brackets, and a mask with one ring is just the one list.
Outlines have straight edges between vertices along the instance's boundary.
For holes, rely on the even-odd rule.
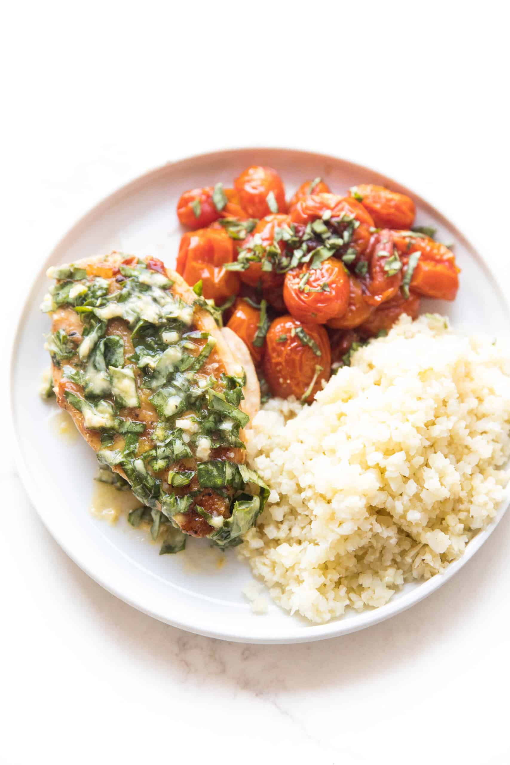
[[[47,291],[48,265],[70,262],[118,249],[138,256],[156,256],[171,268],[181,229],[175,207],[185,189],[223,181],[226,187],[249,164],[268,164],[280,171],[290,192],[307,178],[322,176],[334,191],[356,183],[377,183],[404,191],[417,205],[417,222],[439,229],[439,239],[455,242],[460,267],[459,298],[453,304],[430,301],[426,310],[448,314],[456,327],[488,332],[510,326],[502,292],[473,247],[440,213],[391,179],[359,165],[324,155],[281,149],[240,149],[193,157],[152,171],[112,194],[76,226],[51,253],[34,280],[22,311],[11,365],[11,402],[18,439],[18,467],[31,500],[54,538],[73,560],[104,588],[145,614],[184,630],[246,643],[299,643],[343,635],[398,614],[429,595],[453,576],[495,529],[480,532],[463,558],[447,573],[424,584],[408,584],[382,608],[312,626],[270,604],[268,614],[255,615],[242,596],[252,576],[236,553],[210,549],[191,540],[179,555],[158,555],[158,548],[125,521],[116,526],[89,512],[96,457],[82,438],[70,443],[48,420],[54,404],[42,402],[37,386],[48,365],[42,334],[49,320],[39,311]],[[269,599],[269,598],[268,598]]]

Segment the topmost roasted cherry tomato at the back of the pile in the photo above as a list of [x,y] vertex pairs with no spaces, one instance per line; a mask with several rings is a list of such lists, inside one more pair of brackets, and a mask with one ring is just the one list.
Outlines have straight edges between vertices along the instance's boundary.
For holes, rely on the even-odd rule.
[[[255,164],[236,178],[234,186],[239,194],[242,209],[253,218],[287,212],[285,187],[273,168],[261,168]],[[271,197],[268,201],[269,194]],[[278,210],[274,209],[274,204]]]

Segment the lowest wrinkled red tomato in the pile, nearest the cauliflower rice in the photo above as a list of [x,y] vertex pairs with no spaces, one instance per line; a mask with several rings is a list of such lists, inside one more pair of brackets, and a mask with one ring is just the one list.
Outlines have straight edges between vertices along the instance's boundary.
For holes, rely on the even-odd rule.
[[330,379],[330,340],[323,327],[292,316],[274,319],[265,338],[264,374],[274,396],[312,402]]

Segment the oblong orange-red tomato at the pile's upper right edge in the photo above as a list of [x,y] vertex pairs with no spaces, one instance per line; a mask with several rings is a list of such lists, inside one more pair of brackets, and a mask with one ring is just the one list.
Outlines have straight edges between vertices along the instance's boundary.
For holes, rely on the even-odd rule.
[[416,209],[411,197],[390,191],[384,186],[359,184],[349,190],[354,199],[362,203],[374,220],[375,226],[384,229],[410,228]]

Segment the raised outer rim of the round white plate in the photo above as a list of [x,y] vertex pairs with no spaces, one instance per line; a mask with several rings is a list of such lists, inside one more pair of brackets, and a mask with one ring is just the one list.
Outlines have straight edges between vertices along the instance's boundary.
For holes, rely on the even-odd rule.
[[[255,146],[255,147],[236,147],[236,148],[223,148],[223,149],[214,149],[211,151],[206,151],[197,155],[187,155],[183,158],[178,158],[175,161],[169,161],[165,162],[164,164],[159,165],[156,168],[151,168],[151,170],[146,171],[143,174],[139,174],[136,177],[132,178],[131,181],[127,181],[126,183],[122,184],[119,187],[115,187],[114,190],[110,191],[109,194],[107,194],[105,197],[102,197],[101,200],[99,200],[98,203],[93,205],[93,207],[90,207],[89,210],[86,211],[86,213],[83,213],[82,216],[78,218],[78,220],[75,221],[67,230],[65,233],[63,233],[63,236],[60,237],[60,239],[55,243],[55,245],[50,249],[50,252],[48,252],[47,257],[44,259],[44,262],[41,264],[41,269],[34,275],[34,279],[31,282],[31,286],[28,290],[28,294],[24,301],[21,303],[21,308],[18,311],[17,321],[16,321],[16,327],[15,332],[11,336],[11,348],[10,352],[8,354],[9,357],[9,403],[10,403],[10,422],[11,422],[11,430],[14,435],[14,457],[15,457],[15,467],[18,470],[18,477],[21,481],[21,484],[24,487],[24,490],[28,493],[28,497],[31,500],[32,505],[34,506],[34,510],[37,513],[37,516],[41,519],[43,522],[45,528],[50,533],[50,535],[53,537],[55,542],[60,546],[61,549],[63,549],[63,552],[65,552],[71,560],[78,565],[79,568],[81,568],[82,571],[86,573],[93,581],[96,581],[97,584],[99,584],[102,588],[104,588],[109,593],[115,595],[115,597],[118,597],[119,600],[124,601],[128,605],[136,608],[137,610],[141,611],[144,614],[147,614],[148,616],[151,616],[163,623],[167,623],[171,625],[172,627],[177,627],[180,630],[184,630],[190,633],[199,634],[206,637],[213,637],[218,640],[230,640],[233,642],[239,642],[239,643],[258,643],[258,644],[289,644],[289,643],[307,643],[307,642],[315,642],[316,640],[325,640],[333,637],[339,637],[342,635],[346,635],[349,633],[357,632],[358,630],[365,629],[367,627],[372,627],[373,625],[377,623],[381,623],[382,621],[385,621],[393,616],[396,616],[397,614],[401,614],[404,610],[407,610],[409,607],[413,606],[414,604],[417,604],[424,600],[425,597],[428,597],[433,592],[437,591],[443,584],[445,584],[447,581],[452,578],[457,571],[460,570],[460,568],[463,568],[464,565],[470,560],[470,558],[475,555],[475,553],[480,549],[480,547],[483,545],[484,542],[486,542],[486,539],[489,538],[489,536],[492,534],[492,532],[495,530],[496,526],[499,525],[499,522],[501,521],[502,517],[504,516],[506,510],[508,509],[508,504],[510,503],[510,484],[508,484],[507,487],[505,487],[505,496],[502,500],[501,505],[499,506],[498,512],[495,516],[495,518],[492,520],[492,522],[487,526],[486,529],[482,529],[479,531],[471,540],[469,540],[468,544],[466,545],[466,550],[463,553],[463,556],[459,558],[457,561],[451,563],[446,571],[444,571],[442,574],[434,575],[434,577],[430,578],[427,581],[421,582],[421,584],[417,584],[417,588],[415,588],[413,591],[402,594],[401,597],[398,597],[398,599],[391,600],[388,602],[388,604],[385,604],[384,606],[372,609],[372,610],[365,610],[362,612],[359,612],[359,614],[356,614],[355,617],[344,619],[343,617],[339,617],[337,620],[330,621],[326,624],[311,624],[308,626],[300,626],[300,627],[291,627],[291,622],[289,621],[289,629],[284,630],[279,634],[278,636],[274,636],[270,634],[270,630],[268,631],[267,635],[257,635],[257,636],[249,636],[245,633],[239,633],[236,632],[236,630],[229,630],[226,627],[223,627],[223,629],[218,629],[217,627],[213,627],[211,629],[204,629],[203,627],[195,626],[193,623],[188,623],[185,619],[179,619],[179,618],[171,618],[168,617],[165,614],[158,613],[155,610],[152,610],[150,608],[144,607],[144,605],[138,601],[135,601],[128,591],[122,591],[122,588],[109,585],[107,581],[104,580],[100,575],[96,575],[94,572],[93,564],[89,564],[88,560],[84,560],[83,557],[80,555],[80,550],[70,549],[69,545],[67,545],[66,539],[63,539],[60,535],[60,529],[57,523],[52,524],[51,523],[51,514],[45,513],[44,509],[41,509],[38,506],[37,502],[37,487],[34,485],[33,480],[31,479],[30,470],[28,470],[28,466],[24,463],[24,455],[22,453],[21,449],[21,443],[18,439],[18,431],[15,428],[15,386],[14,386],[14,376],[15,376],[15,364],[17,362],[17,349],[18,349],[18,340],[21,336],[23,327],[24,327],[24,321],[26,320],[28,311],[30,311],[32,304],[34,302],[34,293],[37,292],[41,277],[44,276],[44,272],[47,269],[47,266],[50,264],[51,260],[54,259],[54,256],[56,253],[58,253],[61,249],[65,248],[67,239],[74,238],[77,234],[80,233],[80,229],[83,228],[83,226],[87,226],[88,223],[91,223],[94,219],[96,219],[97,216],[100,216],[102,211],[108,210],[109,207],[112,207],[112,204],[118,203],[122,200],[123,197],[128,197],[130,194],[133,193],[137,188],[143,187],[144,185],[151,182],[151,180],[154,179],[154,177],[158,177],[158,175],[164,174],[166,171],[169,170],[169,168],[173,168],[174,170],[178,168],[179,165],[186,165],[190,162],[195,161],[203,161],[207,158],[218,158],[219,156],[224,156],[227,158],[227,156],[234,156],[234,155],[244,155],[246,152],[253,151],[265,151],[268,153],[274,153],[277,155],[278,153],[288,153],[293,155],[303,155],[304,157],[313,157],[317,158],[317,161],[333,161],[335,163],[341,163],[344,166],[349,166],[349,169],[352,169],[353,171],[360,170],[363,172],[368,172],[369,174],[372,174],[373,176],[377,176],[378,179],[389,181],[390,184],[393,187],[398,187],[399,190],[402,190],[404,193],[408,193],[411,195],[411,197],[414,198],[414,200],[417,200],[419,203],[422,203],[425,207],[429,208],[433,213],[434,217],[437,221],[440,223],[443,223],[445,226],[448,226],[450,229],[453,230],[454,235],[456,236],[456,239],[458,239],[460,242],[463,243],[463,246],[466,247],[466,249],[469,249],[470,255],[473,256],[476,259],[476,262],[482,267],[482,269],[486,272],[487,278],[489,278],[489,282],[492,283],[492,287],[495,289],[495,291],[499,294],[499,298],[502,300],[502,304],[505,305],[505,308],[507,311],[510,311],[510,301],[505,296],[505,293],[502,291],[502,289],[499,287],[499,283],[497,279],[495,278],[495,274],[492,272],[492,268],[487,262],[487,260],[480,254],[478,249],[476,249],[476,246],[473,245],[473,243],[467,239],[467,237],[460,231],[456,223],[447,218],[447,216],[443,215],[437,207],[435,207],[434,203],[431,203],[424,197],[421,197],[420,194],[417,194],[414,192],[414,190],[409,189],[404,184],[401,184],[398,180],[395,180],[393,177],[389,177],[382,173],[381,171],[378,171],[375,168],[369,168],[364,164],[359,164],[358,162],[352,161],[350,159],[345,159],[341,157],[337,157],[335,155],[330,154],[322,154],[317,151],[312,151],[309,149],[302,149],[302,148],[290,148],[290,147],[265,147],[265,146]],[[228,159],[227,159],[228,161]]]

